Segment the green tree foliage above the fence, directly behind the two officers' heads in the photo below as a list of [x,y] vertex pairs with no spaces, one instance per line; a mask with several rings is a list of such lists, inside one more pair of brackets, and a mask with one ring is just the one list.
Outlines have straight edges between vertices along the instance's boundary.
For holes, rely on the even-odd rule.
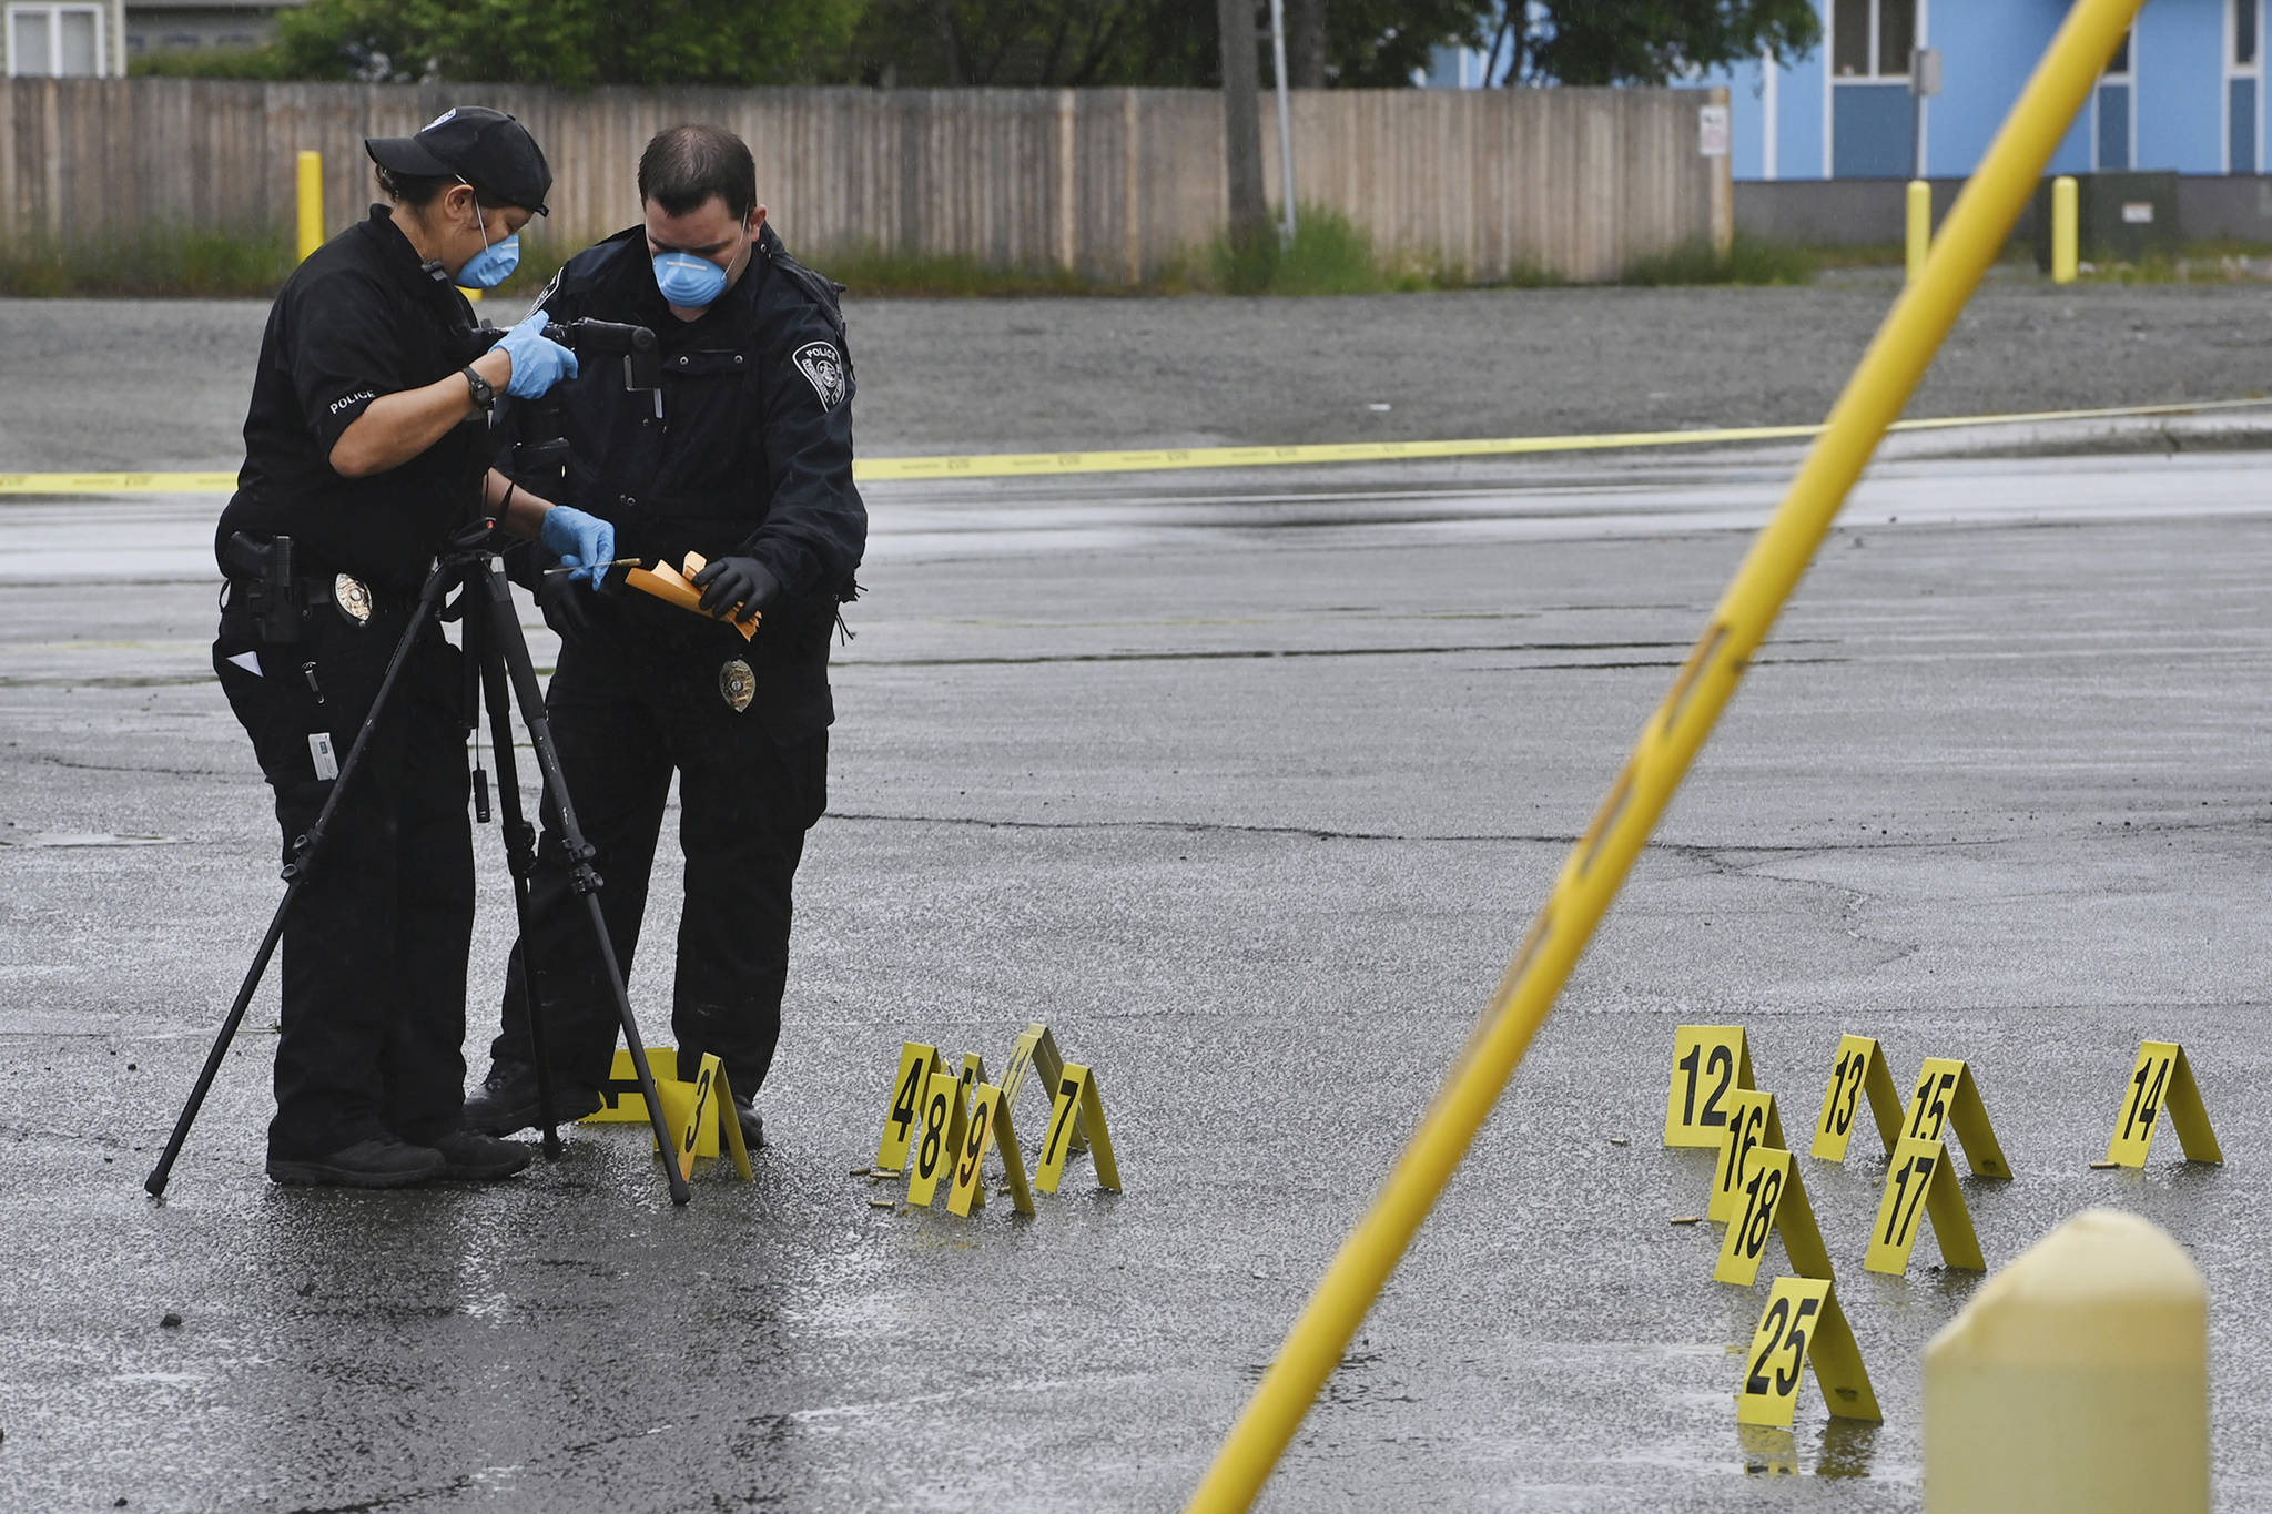
[[314,0],[275,52],[309,79],[811,84],[861,0]]

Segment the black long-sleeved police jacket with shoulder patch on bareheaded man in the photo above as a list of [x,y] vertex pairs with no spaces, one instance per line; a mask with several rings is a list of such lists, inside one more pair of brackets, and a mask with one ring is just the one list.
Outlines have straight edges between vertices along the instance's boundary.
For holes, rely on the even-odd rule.
[[552,390],[570,443],[563,504],[611,520],[616,556],[754,556],[782,583],[752,647],[641,592],[602,595],[602,633],[704,656],[738,649],[768,722],[784,733],[827,724],[829,631],[868,545],[836,286],[766,227],[734,288],[686,322],[654,288],[645,232],[632,227],[570,259],[541,304],[559,322],[652,327],[663,354],[661,418],[652,393],[625,390],[616,359],[582,359]]

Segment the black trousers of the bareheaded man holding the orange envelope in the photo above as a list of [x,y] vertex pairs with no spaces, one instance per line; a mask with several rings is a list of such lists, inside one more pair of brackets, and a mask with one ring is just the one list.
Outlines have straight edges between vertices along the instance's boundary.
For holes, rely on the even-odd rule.
[[[545,713],[577,822],[598,853],[600,910],[625,981],[677,772],[686,901],[670,1026],[679,1069],[693,1076],[713,1051],[734,1094],[747,1099],[766,1083],[782,1035],[791,883],[804,833],[827,808],[827,731],[779,742],[761,704],[734,710],[720,695],[732,656],[716,640],[575,638],[561,645]],[[620,1021],[550,808],[529,894],[529,935],[507,965],[504,1024],[491,1055],[534,1060],[520,996],[534,967],[554,1071],[598,1087]]]

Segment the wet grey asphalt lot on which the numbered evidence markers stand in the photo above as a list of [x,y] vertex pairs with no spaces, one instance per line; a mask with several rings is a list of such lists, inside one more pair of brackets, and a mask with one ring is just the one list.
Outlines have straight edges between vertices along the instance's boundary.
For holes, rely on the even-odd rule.
[[[216,502],[0,504],[0,1507],[1177,1507],[1786,474],[872,490],[772,1146],[686,1210],[632,1126],[486,1189],[270,1187],[273,990],[143,1196],[279,890],[204,661]],[[1886,1423],[1809,1382],[1795,1432],[1738,1432],[1781,1255],[1724,1287],[1718,1228],[1670,1223],[1711,1162],[1659,1146],[1686,1021],[1749,1026],[1795,1144],[1845,1031],[1904,1090],[1970,1058],[2018,1171],[1965,1183],[1990,1264],[2093,1203],[2167,1226],[2220,1507],[2272,1500],[2258,479],[1865,483],[1263,1507],[1918,1507],[1918,1357],[1979,1276],[1929,1239],[1865,1273],[1883,1160],[1799,1158]],[[1095,1065],[1127,1192],[877,1208],[897,1044],[1000,1067],[1029,1019]],[[2090,1171],[2140,1037],[2186,1044],[2224,1167],[2163,1133]]]

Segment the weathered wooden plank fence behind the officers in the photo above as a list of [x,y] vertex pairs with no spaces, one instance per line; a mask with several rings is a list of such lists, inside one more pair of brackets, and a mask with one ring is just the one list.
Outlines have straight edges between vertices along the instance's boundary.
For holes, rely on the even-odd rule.
[[[1381,252],[1495,279],[1606,279],[1677,243],[1724,243],[1727,157],[1702,157],[1706,91],[1300,91],[1297,200]],[[150,222],[289,229],[293,154],[325,161],[325,225],[373,200],[364,136],[450,104],[520,116],[557,184],[532,234],[582,245],[638,218],[657,129],[707,120],[757,154],[791,247],[877,245],[1141,281],[1227,218],[1216,91],[595,89],[0,79],[0,243],[100,241]],[[1277,129],[1263,95],[1266,175]]]

